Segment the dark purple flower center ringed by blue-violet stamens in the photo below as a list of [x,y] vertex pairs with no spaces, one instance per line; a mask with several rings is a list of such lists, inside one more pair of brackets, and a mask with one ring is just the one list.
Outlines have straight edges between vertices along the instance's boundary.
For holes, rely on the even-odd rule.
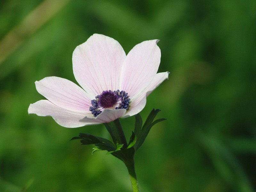
[[103,91],[91,101],[90,111],[94,117],[99,115],[105,109],[128,109],[130,99],[125,91]]

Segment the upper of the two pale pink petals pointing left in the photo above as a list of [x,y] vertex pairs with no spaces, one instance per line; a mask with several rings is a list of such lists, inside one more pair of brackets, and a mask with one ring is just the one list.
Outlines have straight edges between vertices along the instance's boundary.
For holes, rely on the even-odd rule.
[[85,112],[89,116],[91,98],[78,85],[60,77],[45,77],[36,81],[36,90],[53,104],[71,111]]

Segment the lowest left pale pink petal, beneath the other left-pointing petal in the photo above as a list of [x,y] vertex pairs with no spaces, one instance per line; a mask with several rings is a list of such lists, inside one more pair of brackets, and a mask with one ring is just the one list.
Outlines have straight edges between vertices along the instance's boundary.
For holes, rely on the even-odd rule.
[[39,100],[36,103],[30,104],[28,107],[28,114],[52,116],[59,125],[68,128],[99,124],[98,122],[81,122],[80,120],[87,114],[60,108],[48,100]]

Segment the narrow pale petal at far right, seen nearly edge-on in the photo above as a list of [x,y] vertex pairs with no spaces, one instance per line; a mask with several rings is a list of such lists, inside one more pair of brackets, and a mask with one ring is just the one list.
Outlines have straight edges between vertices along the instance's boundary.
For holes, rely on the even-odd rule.
[[146,97],[168,78],[168,74],[169,72],[157,73],[148,87],[140,92],[137,97],[132,98],[129,110],[124,114],[123,118],[138,114],[146,105]]

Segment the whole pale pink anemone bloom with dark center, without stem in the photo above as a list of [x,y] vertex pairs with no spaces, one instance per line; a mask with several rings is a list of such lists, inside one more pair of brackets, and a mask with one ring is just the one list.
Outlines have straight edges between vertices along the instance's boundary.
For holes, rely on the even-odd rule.
[[94,34],[73,52],[75,83],[56,76],[36,81],[47,100],[29,105],[28,113],[52,116],[63,127],[109,123],[139,113],[146,97],[169,72],[157,73],[158,40],[135,45],[126,55],[113,38]]

